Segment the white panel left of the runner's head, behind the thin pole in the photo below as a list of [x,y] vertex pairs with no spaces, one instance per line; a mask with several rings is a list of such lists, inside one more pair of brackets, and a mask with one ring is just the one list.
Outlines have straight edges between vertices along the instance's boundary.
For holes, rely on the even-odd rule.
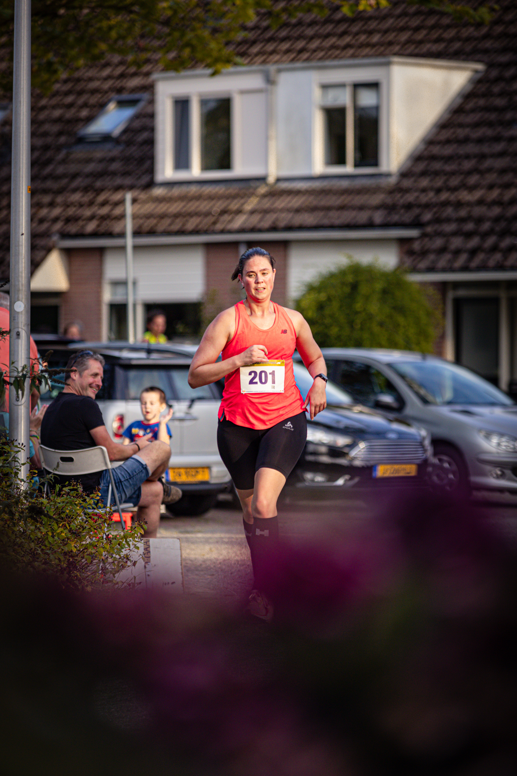
[[[197,302],[205,293],[205,250],[198,245],[133,249],[135,299],[143,303]],[[105,299],[109,283],[126,279],[124,248],[104,251]]]

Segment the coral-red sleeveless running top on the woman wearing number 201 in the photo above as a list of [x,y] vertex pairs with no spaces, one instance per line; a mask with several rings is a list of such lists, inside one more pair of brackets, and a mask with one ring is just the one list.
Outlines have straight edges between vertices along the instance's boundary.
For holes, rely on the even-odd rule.
[[250,345],[264,345],[267,358],[285,362],[284,393],[241,393],[240,370],[225,377],[219,418],[224,417],[246,428],[271,428],[303,412],[302,394],[295,383],[292,355],[296,348],[296,331],[291,318],[283,307],[272,303],[274,324],[270,329],[260,329],[246,313],[243,302],[235,306],[235,334],[222,351],[222,360],[242,353]]

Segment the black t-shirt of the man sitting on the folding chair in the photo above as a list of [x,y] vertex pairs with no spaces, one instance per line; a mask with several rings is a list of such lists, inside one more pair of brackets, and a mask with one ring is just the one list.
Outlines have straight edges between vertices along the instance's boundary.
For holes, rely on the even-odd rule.
[[[83,450],[97,444],[91,436],[92,428],[103,426],[102,412],[98,404],[88,396],[75,393],[59,393],[43,415],[41,444],[54,450]],[[70,480],[82,483],[85,493],[98,487],[101,473],[81,476],[59,476],[57,482]],[[54,480],[55,481],[55,480]]]

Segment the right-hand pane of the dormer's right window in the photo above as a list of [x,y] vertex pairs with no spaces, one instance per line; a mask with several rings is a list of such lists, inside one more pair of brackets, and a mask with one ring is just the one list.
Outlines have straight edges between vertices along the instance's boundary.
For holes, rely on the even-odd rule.
[[354,134],[355,166],[377,167],[379,164],[379,87],[377,84],[355,86]]

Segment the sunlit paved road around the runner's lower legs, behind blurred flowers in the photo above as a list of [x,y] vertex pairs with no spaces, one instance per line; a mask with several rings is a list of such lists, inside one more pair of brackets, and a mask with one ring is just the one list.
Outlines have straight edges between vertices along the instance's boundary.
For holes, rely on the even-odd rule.
[[[517,541],[517,508],[486,504],[472,508]],[[290,505],[279,511],[281,534],[295,538],[332,532],[342,537],[371,520],[374,511],[375,506],[361,501]],[[181,540],[185,593],[217,598],[230,608],[245,601],[253,576],[240,511],[222,502],[198,518],[162,517],[158,535]]]

